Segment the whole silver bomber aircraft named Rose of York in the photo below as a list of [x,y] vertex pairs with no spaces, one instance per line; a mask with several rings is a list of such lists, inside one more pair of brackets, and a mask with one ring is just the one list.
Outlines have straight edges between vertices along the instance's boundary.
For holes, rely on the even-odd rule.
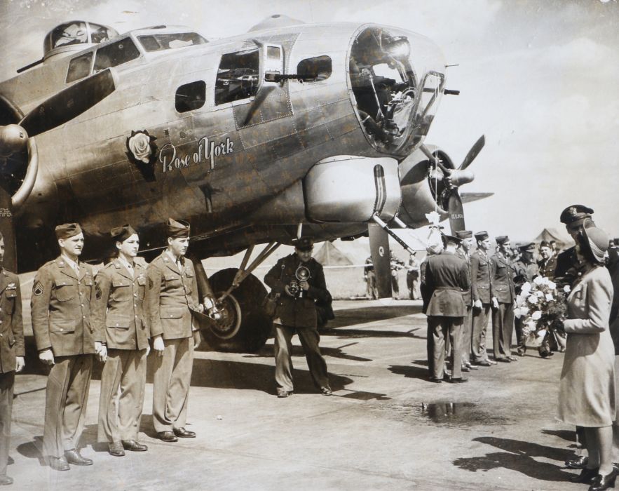
[[[217,297],[204,337],[252,351],[271,320],[251,272],[278,245],[369,234],[390,296],[393,227],[428,224],[437,210],[464,229],[458,187],[472,181],[484,139],[458,168],[424,144],[442,95],[457,91],[445,88],[440,49],[419,34],[272,15],[209,41],[186,27],[118,34],[71,21],[45,36],[43,51],[0,83],[8,269],[53,259],[63,222],[81,224],[83,260],[109,257],[109,230],[125,223],[150,260],[165,247],[163,223],[183,218],[200,293],[210,282]],[[206,277],[201,259],[243,250],[238,269]]]

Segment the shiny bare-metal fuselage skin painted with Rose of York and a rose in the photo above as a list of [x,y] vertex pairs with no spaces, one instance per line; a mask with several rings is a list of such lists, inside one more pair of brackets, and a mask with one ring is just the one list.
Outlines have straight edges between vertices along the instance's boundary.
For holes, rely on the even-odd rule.
[[[320,224],[308,216],[304,177],[333,156],[402,161],[419,146],[432,116],[423,114],[425,126],[418,125],[416,137],[401,148],[377,144],[379,138],[368,132],[351,86],[351,50],[369,27],[391,29],[298,25],[156,52],[145,51],[137,37],[157,31],[121,35],[135,42],[140,56],[110,69],[114,92],[68,123],[36,136],[39,173],[15,213],[20,271],[36,269],[56,254],[53,228],[62,222],[83,227],[87,260],[104,257],[111,245],[109,229],[125,223],[138,229],[143,250],[163,247],[161,224],[168,216],[191,222],[192,248],[203,257],[271,240],[290,242],[299,222],[308,224],[317,240],[365,231],[363,221],[343,217],[337,224]],[[416,68],[416,83],[430,65],[444,74],[440,51],[421,36],[407,36],[427,47],[431,53],[425,55],[433,59]],[[269,43],[283,48],[285,74],[297,73],[299,63],[317,57],[330,58],[330,74],[264,81],[262,50]],[[258,84],[252,95],[216,103],[222,56],[257,47],[260,78],[246,81]],[[416,55],[411,53],[410,59]],[[76,56],[46,61],[0,83],[0,94],[27,114],[71,85],[65,82],[67,67]],[[179,88],[199,81],[205,84],[203,105],[179,112]],[[432,105],[434,111],[437,100]],[[129,140],[142,132],[147,132],[151,150],[139,161]],[[355,160],[350,165],[354,170]],[[394,214],[386,212],[386,218]]]

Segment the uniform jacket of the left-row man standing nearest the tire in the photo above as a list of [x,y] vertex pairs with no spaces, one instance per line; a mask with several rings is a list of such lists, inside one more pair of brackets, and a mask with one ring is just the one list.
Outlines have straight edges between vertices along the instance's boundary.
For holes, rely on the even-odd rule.
[[147,268],[147,323],[151,337],[163,339],[191,337],[191,312],[198,311],[198,283],[191,260],[184,260],[183,271],[163,251]]

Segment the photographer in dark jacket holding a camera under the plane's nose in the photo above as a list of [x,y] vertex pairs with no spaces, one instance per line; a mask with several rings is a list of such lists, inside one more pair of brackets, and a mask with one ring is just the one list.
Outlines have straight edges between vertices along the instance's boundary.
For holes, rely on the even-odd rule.
[[326,300],[329,292],[322,266],[312,257],[313,242],[301,237],[294,242],[294,254],[280,259],[264,276],[264,283],[279,295],[275,328],[275,381],[278,397],[292,394],[292,336],[299,335],[307,365],[315,386],[331,395],[327,363],[320,354],[320,336],[316,328],[317,300]]

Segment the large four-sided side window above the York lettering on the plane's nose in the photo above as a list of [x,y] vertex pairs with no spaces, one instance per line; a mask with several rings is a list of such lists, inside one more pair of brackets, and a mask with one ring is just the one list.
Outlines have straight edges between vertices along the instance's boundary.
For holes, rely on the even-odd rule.
[[259,85],[258,48],[222,55],[215,82],[215,105],[256,95]]

